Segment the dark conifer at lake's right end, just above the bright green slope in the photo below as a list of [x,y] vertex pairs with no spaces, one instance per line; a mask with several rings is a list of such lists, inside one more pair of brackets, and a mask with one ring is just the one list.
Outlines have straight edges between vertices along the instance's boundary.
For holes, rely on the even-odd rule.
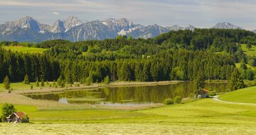
[[245,84],[242,80],[240,72],[238,71],[238,68],[234,68],[229,82],[230,82],[230,90],[231,91],[238,90],[238,89],[245,87]]

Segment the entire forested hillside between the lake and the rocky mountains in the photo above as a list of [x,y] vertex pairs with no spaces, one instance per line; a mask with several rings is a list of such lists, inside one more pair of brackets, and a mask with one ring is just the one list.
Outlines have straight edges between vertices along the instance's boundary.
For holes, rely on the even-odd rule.
[[[48,48],[43,54],[11,52],[0,48],[0,82],[6,75],[21,82],[57,80],[69,83],[110,80],[228,80],[235,63],[255,60],[242,52],[240,43],[256,44],[256,35],[244,30],[195,29],[171,31],[152,39],[117,36],[104,41],[43,43],[1,41],[0,45]],[[255,66],[255,65],[252,65]],[[246,65],[245,65],[246,67]],[[255,72],[242,68],[245,79]],[[251,78],[252,77],[252,78]]]

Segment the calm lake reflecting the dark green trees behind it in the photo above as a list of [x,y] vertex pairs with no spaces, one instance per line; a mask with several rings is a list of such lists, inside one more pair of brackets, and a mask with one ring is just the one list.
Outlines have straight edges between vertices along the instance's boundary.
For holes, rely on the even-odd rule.
[[[225,92],[225,90],[228,90],[228,84],[206,83],[206,89]],[[26,96],[66,104],[131,105],[161,103],[168,97],[189,97],[194,91],[196,91],[196,88],[193,86],[193,82],[180,82],[172,85],[105,87],[97,90],[68,90]]]

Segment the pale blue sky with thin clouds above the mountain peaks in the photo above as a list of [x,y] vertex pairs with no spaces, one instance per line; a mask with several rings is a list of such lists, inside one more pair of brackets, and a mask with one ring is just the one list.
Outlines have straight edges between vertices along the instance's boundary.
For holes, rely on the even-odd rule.
[[191,24],[200,28],[227,21],[256,29],[254,0],[0,0],[0,23],[32,16],[41,23],[53,24],[70,15],[81,21],[128,18],[144,25]]

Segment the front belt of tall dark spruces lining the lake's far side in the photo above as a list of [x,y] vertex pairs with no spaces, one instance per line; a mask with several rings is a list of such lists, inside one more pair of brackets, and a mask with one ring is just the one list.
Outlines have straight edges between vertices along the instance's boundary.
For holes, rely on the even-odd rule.
[[[21,82],[26,75],[31,82],[57,80],[63,75],[67,82],[80,82],[87,77],[92,82],[111,80],[193,80],[198,73],[204,79],[228,80],[235,64],[231,56],[191,50],[164,50],[152,58],[118,60],[55,60],[47,55],[12,53],[0,50],[1,78]],[[1,80],[3,81],[3,80]]]

